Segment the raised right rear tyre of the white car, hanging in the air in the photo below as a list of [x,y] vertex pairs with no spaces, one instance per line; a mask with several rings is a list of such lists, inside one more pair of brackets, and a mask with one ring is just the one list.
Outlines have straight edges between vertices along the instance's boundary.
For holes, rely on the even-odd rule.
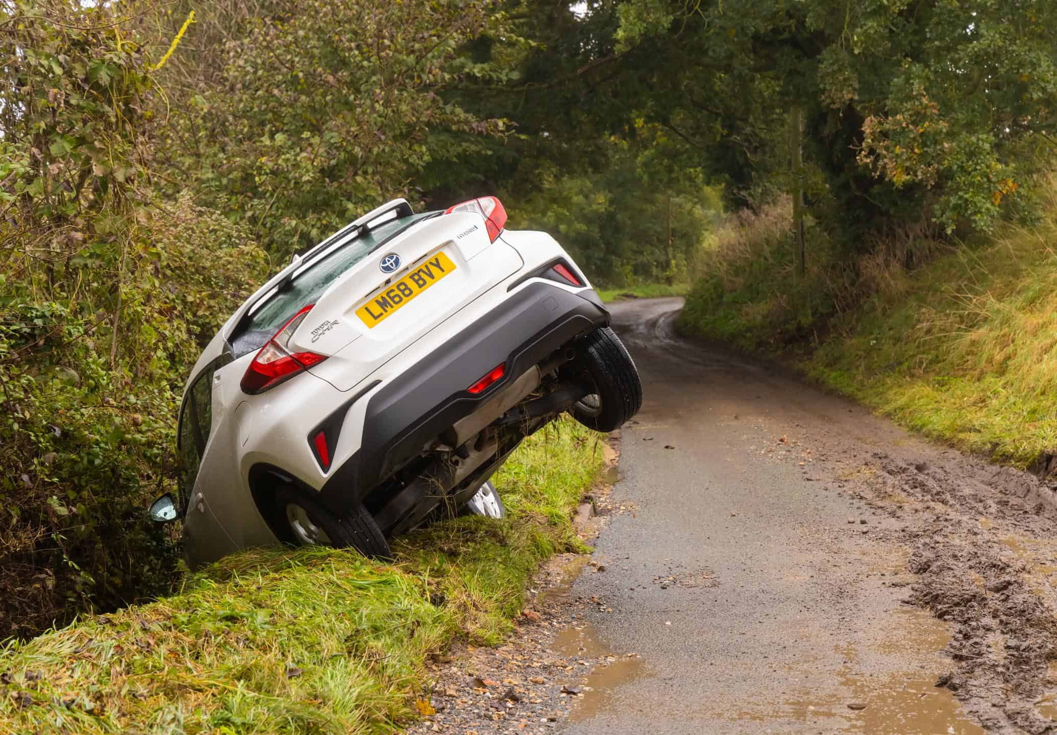
[[593,383],[594,392],[569,409],[588,428],[612,431],[643,405],[643,384],[627,348],[609,327],[596,329],[577,345],[575,364]]

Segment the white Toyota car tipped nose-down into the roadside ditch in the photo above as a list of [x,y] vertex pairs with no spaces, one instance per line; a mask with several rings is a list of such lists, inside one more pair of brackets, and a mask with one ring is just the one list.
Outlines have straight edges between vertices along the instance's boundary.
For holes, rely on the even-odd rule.
[[179,419],[193,564],[238,549],[352,546],[438,513],[499,515],[488,479],[568,410],[608,431],[642,405],[609,313],[557,242],[504,229],[495,197],[360,217],[251,296],[206,347]]

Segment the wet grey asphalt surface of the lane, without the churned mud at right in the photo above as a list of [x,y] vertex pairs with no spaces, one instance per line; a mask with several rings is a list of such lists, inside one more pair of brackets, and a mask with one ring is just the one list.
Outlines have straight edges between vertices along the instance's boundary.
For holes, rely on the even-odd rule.
[[982,732],[932,685],[950,664],[944,624],[901,604],[901,521],[842,490],[873,447],[913,440],[680,338],[680,307],[612,308],[645,404],[623,430],[605,571],[586,568],[573,593],[592,601],[582,645],[614,661],[559,730]]

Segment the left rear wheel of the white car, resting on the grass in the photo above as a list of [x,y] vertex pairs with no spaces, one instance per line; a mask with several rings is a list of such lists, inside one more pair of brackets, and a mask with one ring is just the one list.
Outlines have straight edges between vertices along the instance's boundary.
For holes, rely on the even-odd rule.
[[392,555],[374,516],[363,503],[338,518],[313,498],[283,488],[276,494],[276,509],[285,519],[289,540],[298,546],[352,547],[365,556]]

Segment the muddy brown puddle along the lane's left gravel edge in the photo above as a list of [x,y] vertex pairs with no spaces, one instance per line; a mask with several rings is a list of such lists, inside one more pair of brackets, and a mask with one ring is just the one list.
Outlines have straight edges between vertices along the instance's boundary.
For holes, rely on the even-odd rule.
[[[597,636],[592,625],[582,628],[565,628],[558,633],[558,651],[567,657],[605,659],[594,665],[582,684],[579,703],[569,715],[572,722],[591,719],[599,712],[612,711],[616,688],[620,684],[634,681],[644,674],[645,663],[637,656],[613,656]],[[579,682],[577,682],[579,683]]]

